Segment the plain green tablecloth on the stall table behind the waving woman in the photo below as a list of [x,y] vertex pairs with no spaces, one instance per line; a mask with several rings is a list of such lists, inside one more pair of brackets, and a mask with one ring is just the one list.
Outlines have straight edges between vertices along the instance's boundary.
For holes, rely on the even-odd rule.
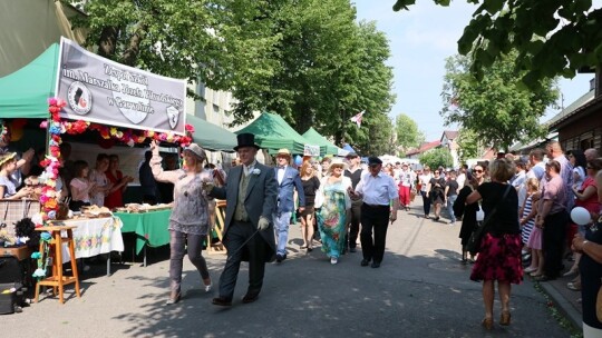
[[167,226],[172,210],[113,215],[122,219],[122,232],[136,232],[136,254],[140,254],[144,246],[161,247],[169,243]]

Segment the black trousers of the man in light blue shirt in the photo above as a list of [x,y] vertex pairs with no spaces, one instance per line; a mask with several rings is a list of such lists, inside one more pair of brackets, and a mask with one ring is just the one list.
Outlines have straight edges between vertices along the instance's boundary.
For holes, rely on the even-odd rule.
[[[376,262],[382,261],[385,243],[387,241],[387,228],[389,227],[389,206],[361,205],[361,251],[363,259]],[[373,240],[372,240],[373,229]]]

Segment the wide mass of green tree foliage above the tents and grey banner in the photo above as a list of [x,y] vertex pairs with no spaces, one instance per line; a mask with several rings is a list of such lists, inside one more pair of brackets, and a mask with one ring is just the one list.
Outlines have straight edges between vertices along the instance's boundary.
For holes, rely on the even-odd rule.
[[[336,143],[368,145],[369,126],[388,119],[395,100],[388,40],[373,22],[356,22],[349,0],[105,0],[84,10],[76,24],[87,47],[231,91],[235,125],[272,111],[299,132],[311,126]],[[349,119],[362,110],[356,128]]]

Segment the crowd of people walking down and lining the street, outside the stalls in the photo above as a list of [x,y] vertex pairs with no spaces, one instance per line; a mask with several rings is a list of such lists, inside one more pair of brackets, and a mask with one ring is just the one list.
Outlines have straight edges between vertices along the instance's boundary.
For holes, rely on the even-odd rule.
[[[207,201],[212,198],[226,200],[223,243],[227,259],[214,305],[232,305],[243,260],[250,262],[243,302],[258,299],[265,262],[282,264],[287,259],[289,228],[297,218],[302,233],[300,248],[310,252],[318,243],[330,262],[337,265],[342,255],[357,250],[359,237],[360,266],[379,268],[385,256],[388,225],[397,219],[399,209],[410,210],[411,199],[419,191],[425,218],[439,221],[441,210],[447,209],[452,226],[462,219],[462,264],[474,264],[470,279],[483,282],[485,317],[482,324],[486,329],[494,326],[496,287],[501,304],[499,325],[511,325],[512,285],[521,284],[523,274],[546,281],[563,274],[575,274],[577,267],[583,291],[584,330],[602,329],[595,318],[594,297],[602,277],[602,265],[596,261],[602,262],[602,238],[598,239],[594,229],[600,212],[598,187],[602,186],[595,177],[602,169],[602,159],[594,151],[585,151],[590,153],[584,161],[585,168],[577,165],[583,163],[577,158],[581,157],[579,151],[565,156],[559,142],[551,142],[545,149],[532,150],[525,158],[499,156],[473,168],[463,166],[458,171],[437,168],[431,173],[428,166],[421,170],[412,170],[407,163],[383,166],[376,157],[368,158],[362,166],[357,153],[349,153],[344,159],[324,158],[321,162],[309,158],[301,166],[294,166],[288,149],[278,151],[276,166],[270,168],[258,162],[258,150],[253,135],[240,135],[236,152],[241,166],[230,170],[223,185],[207,175],[200,178],[202,188],[195,188],[192,195],[186,196],[191,193],[190,188],[184,192],[174,190],[175,202],[182,202],[181,193],[188,199],[196,196]],[[198,156],[200,160],[205,158]],[[153,162],[153,166],[162,168],[157,163]],[[153,170],[154,177],[165,180],[161,176],[165,173],[158,172]],[[183,177],[173,180],[178,185]],[[599,180],[601,177],[602,173],[598,175]],[[208,210],[208,202],[196,206]],[[571,226],[569,215],[574,206],[591,211],[593,227]],[[175,215],[169,222],[174,252],[168,304],[179,300],[184,239],[197,233],[205,236],[208,229],[206,217],[196,218],[194,231],[183,228],[176,219],[184,211],[176,209],[174,206]],[[200,220],[202,225],[198,225]],[[469,252],[470,236],[483,223],[486,230],[478,254]],[[564,271],[562,259],[571,248],[579,266]],[[201,249],[188,243],[188,257],[205,287],[211,286]],[[575,284],[577,280],[571,285]]]

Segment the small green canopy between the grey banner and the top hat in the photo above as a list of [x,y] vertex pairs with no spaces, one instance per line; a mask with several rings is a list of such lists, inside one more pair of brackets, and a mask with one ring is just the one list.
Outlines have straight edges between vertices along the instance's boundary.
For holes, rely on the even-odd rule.
[[234,151],[236,135],[201,118],[188,115],[186,123],[194,127],[193,140],[198,146],[212,151]]

